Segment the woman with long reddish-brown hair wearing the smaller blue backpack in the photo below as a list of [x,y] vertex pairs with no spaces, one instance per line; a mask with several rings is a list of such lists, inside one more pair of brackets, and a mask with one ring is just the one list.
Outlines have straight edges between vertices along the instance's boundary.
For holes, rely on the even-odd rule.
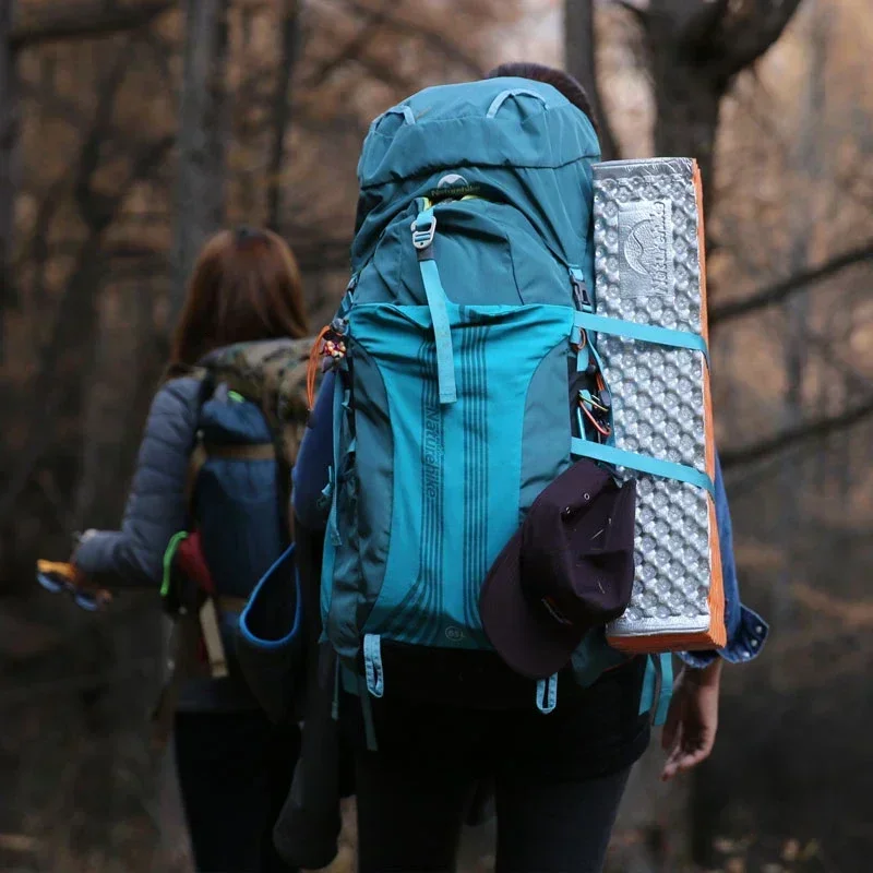
[[159,719],[174,733],[196,868],[211,873],[291,869],[273,848],[272,827],[299,728],[272,723],[259,708],[232,637],[252,587],[289,540],[306,333],[287,244],[244,227],[212,237],[152,404],[121,529],[89,531],[73,557],[91,583],[162,587],[176,615],[176,671]]

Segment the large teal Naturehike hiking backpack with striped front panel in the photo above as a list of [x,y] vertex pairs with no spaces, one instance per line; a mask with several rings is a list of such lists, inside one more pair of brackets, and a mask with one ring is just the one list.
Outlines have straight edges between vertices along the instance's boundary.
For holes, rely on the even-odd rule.
[[[388,641],[491,649],[480,586],[584,436],[572,340],[591,311],[599,157],[588,119],[522,79],[427,88],[370,127],[352,279],[325,344],[337,379],[321,602],[361,692],[391,683]],[[573,667],[588,684],[623,660],[598,631]],[[555,697],[557,678],[539,683],[541,710]]]

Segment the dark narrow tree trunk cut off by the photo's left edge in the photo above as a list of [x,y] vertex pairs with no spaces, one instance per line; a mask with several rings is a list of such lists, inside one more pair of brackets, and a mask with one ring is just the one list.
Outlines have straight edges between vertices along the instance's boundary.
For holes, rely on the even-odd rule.
[[13,301],[12,232],[15,225],[15,144],[17,107],[15,53],[12,49],[14,0],[0,3],[0,361],[3,359],[3,320]]

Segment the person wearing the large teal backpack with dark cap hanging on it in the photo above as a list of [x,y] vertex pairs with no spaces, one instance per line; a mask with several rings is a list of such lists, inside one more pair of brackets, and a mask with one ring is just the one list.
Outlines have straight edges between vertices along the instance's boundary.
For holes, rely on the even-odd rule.
[[[635,479],[576,452],[590,439],[608,454],[575,430],[578,380],[599,375],[573,332],[593,311],[598,160],[583,89],[531,64],[427,88],[364,142],[352,279],[321,346],[294,497],[326,531],[360,873],[453,870],[488,779],[498,871],[599,871],[665,708],[669,656],[606,641],[634,581]],[[584,396],[608,435],[602,385]],[[713,469],[682,475],[716,506],[727,642],[682,656],[663,778],[709,754],[721,662],[766,636],[740,606]]]

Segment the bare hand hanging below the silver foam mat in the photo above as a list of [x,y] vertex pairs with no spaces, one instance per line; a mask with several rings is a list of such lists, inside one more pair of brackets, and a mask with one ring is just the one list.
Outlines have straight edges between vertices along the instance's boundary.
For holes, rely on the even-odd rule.
[[685,667],[677,679],[661,736],[661,745],[668,752],[661,773],[663,781],[696,767],[713,751],[721,663],[721,658],[716,658],[703,670]]

